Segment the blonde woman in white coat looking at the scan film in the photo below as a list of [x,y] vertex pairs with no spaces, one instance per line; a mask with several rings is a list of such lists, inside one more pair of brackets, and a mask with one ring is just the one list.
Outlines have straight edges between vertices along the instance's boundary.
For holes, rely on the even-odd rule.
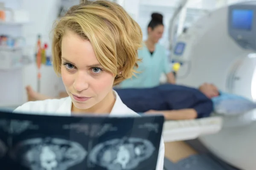
[[[53,33],[53,67],[69,96],[27,102],[15,112],[137,115],[113,91],[134,74],[142,44],[140,26],[121,6],[82,1],[56,23]],[[163,170],[163,160],[161,141],[156,170]]]

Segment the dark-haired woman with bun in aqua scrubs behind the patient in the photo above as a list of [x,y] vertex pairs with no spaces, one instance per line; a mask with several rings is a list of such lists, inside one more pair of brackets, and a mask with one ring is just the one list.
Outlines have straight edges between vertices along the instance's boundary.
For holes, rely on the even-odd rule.
[[163,36],[163,15],[153,13],[148,24],[148,39],[143,48],[138,51],[142,59],[136,77],[126,79],[119,88],[152,88],[160,85],[161,74],[166,74],[169,83],[175,84],[175,77],[169,65],[166,49],[158,43]]

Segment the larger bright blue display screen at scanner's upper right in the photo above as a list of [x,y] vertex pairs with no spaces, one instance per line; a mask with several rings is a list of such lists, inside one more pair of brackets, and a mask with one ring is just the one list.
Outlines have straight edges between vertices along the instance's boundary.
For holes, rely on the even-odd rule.
[[233,9],[232,27],[234,29],[250,31],[253,25],[253,10]]

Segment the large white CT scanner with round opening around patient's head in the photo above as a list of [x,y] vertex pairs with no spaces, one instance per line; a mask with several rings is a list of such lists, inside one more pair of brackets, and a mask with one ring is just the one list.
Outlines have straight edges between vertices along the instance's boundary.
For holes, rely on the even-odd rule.
[[[172,59],[182,63],[177,84],[209,82],[256,100],[256,1],[219,8],[199,19],[180,35]],[[256,111],[209,119],[218,119],[219,131],[198,135],[200,141],[227,163],[256,170]]]

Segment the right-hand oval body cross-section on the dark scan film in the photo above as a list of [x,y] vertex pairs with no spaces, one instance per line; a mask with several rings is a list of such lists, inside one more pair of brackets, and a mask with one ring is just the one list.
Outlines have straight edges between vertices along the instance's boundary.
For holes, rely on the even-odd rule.
[[154,150],[153,144],[145,139],[112,139],[93,147],[89,159],[108,170],[133,170]]

